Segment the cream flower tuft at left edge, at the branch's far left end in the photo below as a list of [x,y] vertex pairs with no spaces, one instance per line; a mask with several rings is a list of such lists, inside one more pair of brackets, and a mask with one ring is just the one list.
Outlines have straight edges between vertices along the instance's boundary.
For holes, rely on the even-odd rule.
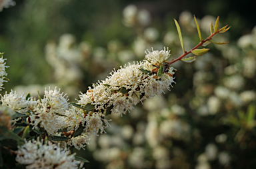
[[5,92],[5,95],[1,96],[1,102],[2,105],[9,106],[9,108],[21,113],[27,111],[33,100],[31,98],[26,100],[24,93],[16,94],[16,91],[11,90],[9,94]]

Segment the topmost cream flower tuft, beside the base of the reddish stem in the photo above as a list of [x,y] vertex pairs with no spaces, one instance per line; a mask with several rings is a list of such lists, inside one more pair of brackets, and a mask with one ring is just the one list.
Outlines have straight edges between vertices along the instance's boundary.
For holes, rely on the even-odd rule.
[[146,59],[150,61],[152,64],[157,63],[159,65],[171,56],[170,52],[171,51],[169,51],[168,48],[167,50],[164,48],[164,50],[162,51],[153,51],[153,49],[152,52],[149,52],[148,50],[145,51]]

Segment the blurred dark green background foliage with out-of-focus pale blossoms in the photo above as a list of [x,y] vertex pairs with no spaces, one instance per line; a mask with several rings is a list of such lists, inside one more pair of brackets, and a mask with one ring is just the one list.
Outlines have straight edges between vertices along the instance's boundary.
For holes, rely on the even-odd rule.
[[[219,15],[230,31],[215,37],[195,63],[175,63],[171,92],[114,120],[107,134],[77,152],[86,168],[255,168],[256,22],[251,1],[16,0],[0,13],[5,90],[37,95],[57,86],[71,101],[113,68],[141,61],[146,49],[185,50],[199,43]],[[133,5],[133,6],[131,6]]]

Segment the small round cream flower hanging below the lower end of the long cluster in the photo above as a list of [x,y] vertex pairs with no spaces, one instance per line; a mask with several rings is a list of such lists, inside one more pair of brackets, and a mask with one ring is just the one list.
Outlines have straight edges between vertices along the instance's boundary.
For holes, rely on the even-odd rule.
[[[99,112],[93,112],[93,113],[87,114],[87,116],[85,117],[85,122],[86,122],[85,130],[91,131],[95,135],[99,132],[99,130],[101,134],[105,132],[104,129],[110,125],[108,120],[104,119],[104,116],[105,116],[104,114]],[[105,126],[103,122],[105,122]]]

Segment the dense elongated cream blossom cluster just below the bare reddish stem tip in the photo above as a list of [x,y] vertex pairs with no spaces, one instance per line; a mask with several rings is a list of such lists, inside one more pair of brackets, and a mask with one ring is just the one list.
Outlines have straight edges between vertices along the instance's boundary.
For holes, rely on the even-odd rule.
[[[170,56],[170,51],[147,52],[143,62],[129,64],[113,71],[105,81],[93,85],[85,94],[81,93],[78,103],[82,106],[92,104],[97,113],[102,113],[111,108],[114,114],[126,114],[137,104],[147,97],[154,97],[169,89],[173,81],[173,68],[157,77],[151,73],[156,67],[160,67]],[[148,71],[144,73],[141,69]]]

